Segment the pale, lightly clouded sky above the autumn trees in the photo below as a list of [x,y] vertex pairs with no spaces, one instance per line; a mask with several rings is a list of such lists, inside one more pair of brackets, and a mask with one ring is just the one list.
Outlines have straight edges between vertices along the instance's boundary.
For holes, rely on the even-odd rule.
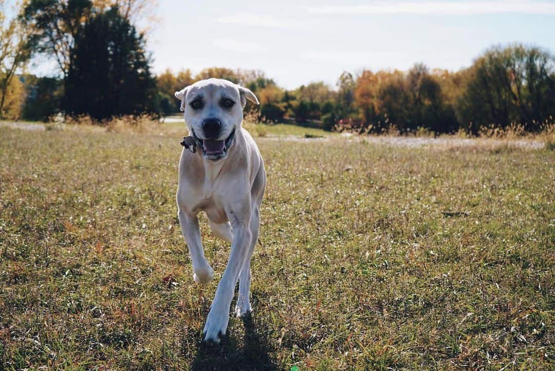
[[555,53],[555,0],[158,0],[149,34],[155,73],[258,69],[287,89],[343,71],[468,67],[491,45]]

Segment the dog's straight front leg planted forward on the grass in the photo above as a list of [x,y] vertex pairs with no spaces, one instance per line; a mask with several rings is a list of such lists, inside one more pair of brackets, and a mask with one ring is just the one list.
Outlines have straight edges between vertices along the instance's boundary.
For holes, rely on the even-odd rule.
[[[245,207],[246,206],[246,207]],[[250,250],[253,238],[250,231],[250,200],[241,205],[240,209],[227,212],[233,227],[233,242],[231,243],[231,254],[228,266],[216,289],[216,295],[206,325],[204,326],[204,341],[219,342],[219,337],[225,335],[229,322],[229,307],[235,291],[235,284],[239,279],[239,273],[244,266]]]

